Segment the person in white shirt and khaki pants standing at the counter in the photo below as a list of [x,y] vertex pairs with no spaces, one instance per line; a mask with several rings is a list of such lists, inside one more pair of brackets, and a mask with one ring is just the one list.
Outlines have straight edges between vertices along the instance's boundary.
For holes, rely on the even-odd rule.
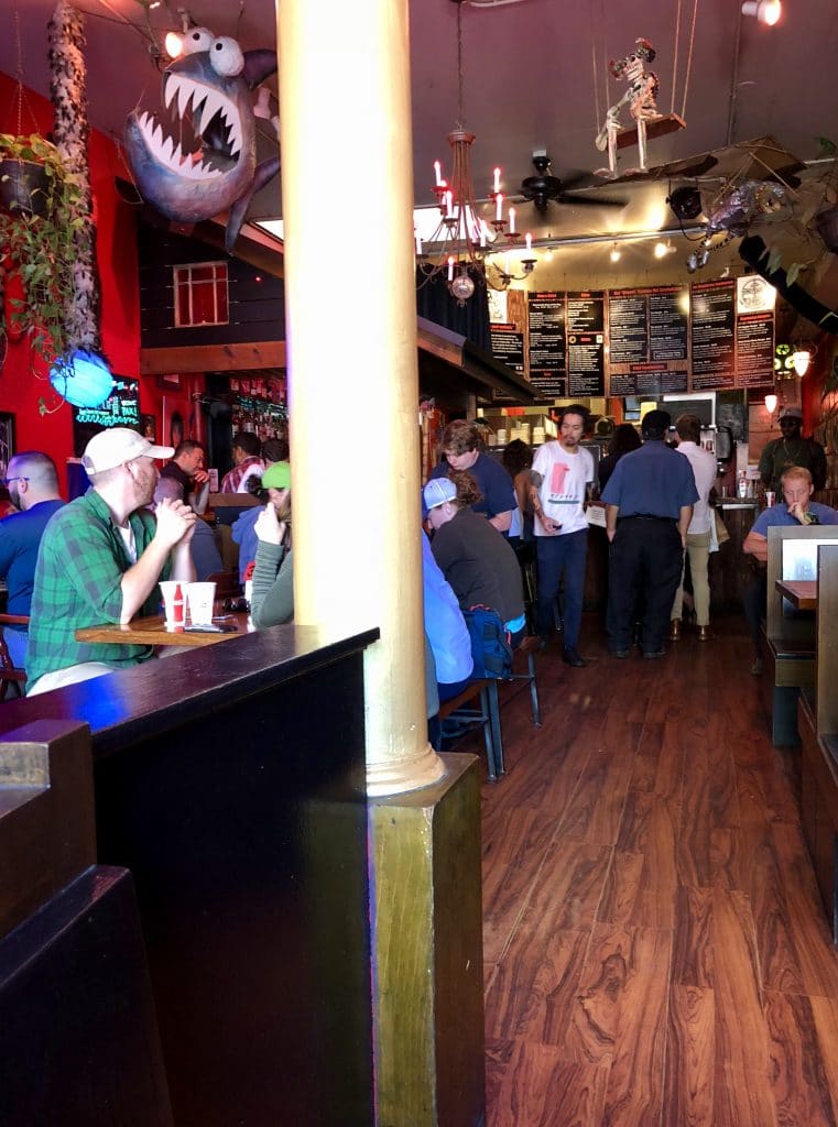
[[[696,415],[679,415],[676,419],[677,451],[683,454],[693,467],[696,479],[698,500],[693,508],[693,520],[687,529],[687,556],[689,557],[689,574],[693,577],[693,598],[696,606],[696,625],[698,640],[709,641],[713,631],[709,628],[709,582],[707,565],[709,562],[711,521],[715,520],[709,505],[709,491],[716,482],[716,460],[708,450],[702,450],[702,420]],[[683,568],[681,582],[678,585],[670,615],[669,637],[678,641],[681,637],[681,613],[683,611]]]

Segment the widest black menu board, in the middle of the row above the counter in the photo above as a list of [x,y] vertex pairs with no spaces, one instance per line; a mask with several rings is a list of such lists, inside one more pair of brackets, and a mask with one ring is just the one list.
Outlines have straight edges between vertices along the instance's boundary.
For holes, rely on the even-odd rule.
[[686,391],[689,290],[682,285],[611,290],[609,394]]

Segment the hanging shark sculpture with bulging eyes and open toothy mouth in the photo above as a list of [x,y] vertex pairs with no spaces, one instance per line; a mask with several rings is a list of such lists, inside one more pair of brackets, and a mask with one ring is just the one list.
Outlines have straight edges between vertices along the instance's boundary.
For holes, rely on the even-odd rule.
[[164,72],[164,105],[174,136],[151,114],[133,110],[125,148],[136,185],[157,210],[180,223],[228,211],[224,246],[236,245],[255,192],[280,169],[256,165],[252,91],[276,71],[273,51],[242,52],[236,39],[193,27],[184,54]]

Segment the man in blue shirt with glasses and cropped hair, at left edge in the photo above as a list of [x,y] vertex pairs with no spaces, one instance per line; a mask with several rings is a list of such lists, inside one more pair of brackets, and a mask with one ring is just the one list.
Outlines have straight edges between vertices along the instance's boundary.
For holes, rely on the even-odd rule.
[[[15,454],[6,471],[6,486],[12,505],[20,509],[0,521],[0,576],[9,591],[6,609],[9,614],[28,615],[41,538],[46,522],[64,502],[55,463],[36,450]],[[29,641],[26,627],[7,625],[3,638],[14,664],[24,668]]]

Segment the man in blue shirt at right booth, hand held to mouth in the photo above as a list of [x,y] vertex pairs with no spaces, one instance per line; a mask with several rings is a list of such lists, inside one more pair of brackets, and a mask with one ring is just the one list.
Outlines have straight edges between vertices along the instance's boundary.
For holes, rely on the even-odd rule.
[[742,596],[744,616],[753,644],[753,664],[751,673],[755,677],[762,672],[762,655],[759,649],[759,625],[766,613],[768,601],[768,577],[765,566],[768,561],[768,530],[773,527],[793,527],[802,524],[838,524],[838,513],[829,505],[819,505],[812,500],[814,483],[812,474],[802,465],[792,465],[780,478],[783,503],[770,508],[764,508],[753,527],[742,544],[742,551],[752,556],[760,566],[753,583],[746,588]]

